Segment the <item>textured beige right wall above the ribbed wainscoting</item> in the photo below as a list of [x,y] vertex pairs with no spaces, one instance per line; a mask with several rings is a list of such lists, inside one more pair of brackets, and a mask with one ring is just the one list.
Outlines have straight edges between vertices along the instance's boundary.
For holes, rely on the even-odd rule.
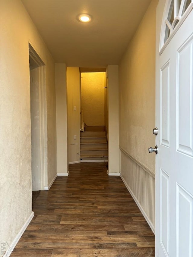
[[155,32],[153,0],[119,64],[119,144],[155,172]]

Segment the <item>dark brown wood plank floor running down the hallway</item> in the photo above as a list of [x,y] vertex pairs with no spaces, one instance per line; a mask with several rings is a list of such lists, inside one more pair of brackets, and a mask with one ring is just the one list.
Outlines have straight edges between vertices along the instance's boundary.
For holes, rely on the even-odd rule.
[[69,166],[33,205],[13,256],[155,256],[155,237],[120,177],[103,162]]

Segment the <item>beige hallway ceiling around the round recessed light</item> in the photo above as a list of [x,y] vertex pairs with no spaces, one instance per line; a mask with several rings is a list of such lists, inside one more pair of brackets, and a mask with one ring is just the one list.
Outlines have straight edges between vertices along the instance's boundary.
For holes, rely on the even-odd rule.
[[[22,0],[55,62],[119,64],[151,0]],[[77,20],[90,14],[90,23]]]

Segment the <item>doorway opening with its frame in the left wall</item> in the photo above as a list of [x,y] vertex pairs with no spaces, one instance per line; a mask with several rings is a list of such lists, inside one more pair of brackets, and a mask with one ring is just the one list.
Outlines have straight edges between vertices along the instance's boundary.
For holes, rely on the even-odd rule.
[[44,190],[47,156],[45,64],[29,44],[32,200]]

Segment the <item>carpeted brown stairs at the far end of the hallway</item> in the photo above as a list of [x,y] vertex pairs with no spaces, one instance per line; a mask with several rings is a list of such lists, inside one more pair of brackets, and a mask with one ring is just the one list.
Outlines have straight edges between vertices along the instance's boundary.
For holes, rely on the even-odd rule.
[[108,160],[107,136],[104,126],[85,127],[85,131],[81,132],[80,159]]

